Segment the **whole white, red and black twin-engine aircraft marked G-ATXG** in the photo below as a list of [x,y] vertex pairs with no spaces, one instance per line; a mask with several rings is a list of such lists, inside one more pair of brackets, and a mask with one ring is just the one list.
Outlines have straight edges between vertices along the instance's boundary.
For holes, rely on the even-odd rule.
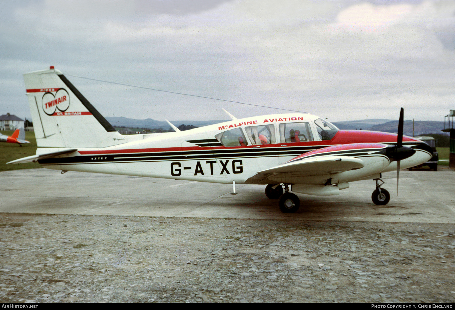
[[[38,161],[48,169],[136,175],[175,180],[267,185],[285,213],[308,195],[339,195],[358,180],[376,181],[372,200],[389,202],[381,173],[430,160],[426,143],[367,130],[339,130],[303,113],[263,115],[162,134],[121,135],[59,71],[24,74],[35,128],[36,155],[9,163]],[[398,182],[397,182],[398,183]],[[284,186],[284,193],[283,193]],[[397,185],[398,186],[398,185]],[[397,188],[398,190],[398,188]]]

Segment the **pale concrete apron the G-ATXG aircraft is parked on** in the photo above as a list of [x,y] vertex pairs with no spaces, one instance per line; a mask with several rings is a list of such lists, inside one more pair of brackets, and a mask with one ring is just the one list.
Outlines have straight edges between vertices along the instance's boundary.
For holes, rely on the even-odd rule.
[[402,170],[399,196],[396,173],[384,174],[384,206],[371,201],[373,180],[351,182],[339,196],[297,194],[293,214],[265,196],[265,185],[237,185],[229,195],[232,185],[47,169],[3,171],[0,180],[0,212],[455,223],[452,171]]

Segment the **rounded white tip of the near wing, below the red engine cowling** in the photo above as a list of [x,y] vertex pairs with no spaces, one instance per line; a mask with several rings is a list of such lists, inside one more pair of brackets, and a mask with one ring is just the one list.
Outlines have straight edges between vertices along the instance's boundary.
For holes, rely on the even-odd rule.
[[316,172],[335,173],[363,168],[364,161],[350,156],[318,156],[292,161],[258,173]]

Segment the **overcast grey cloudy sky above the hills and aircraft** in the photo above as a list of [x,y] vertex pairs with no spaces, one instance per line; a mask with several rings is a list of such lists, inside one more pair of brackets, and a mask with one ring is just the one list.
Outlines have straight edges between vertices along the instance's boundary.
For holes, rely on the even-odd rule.
[[22,118],[22,74],[50,65],[104,116],[282,112],[69,75],[331,121],[455,109],[455,0],[0,0],[0,51],[0,114]]

